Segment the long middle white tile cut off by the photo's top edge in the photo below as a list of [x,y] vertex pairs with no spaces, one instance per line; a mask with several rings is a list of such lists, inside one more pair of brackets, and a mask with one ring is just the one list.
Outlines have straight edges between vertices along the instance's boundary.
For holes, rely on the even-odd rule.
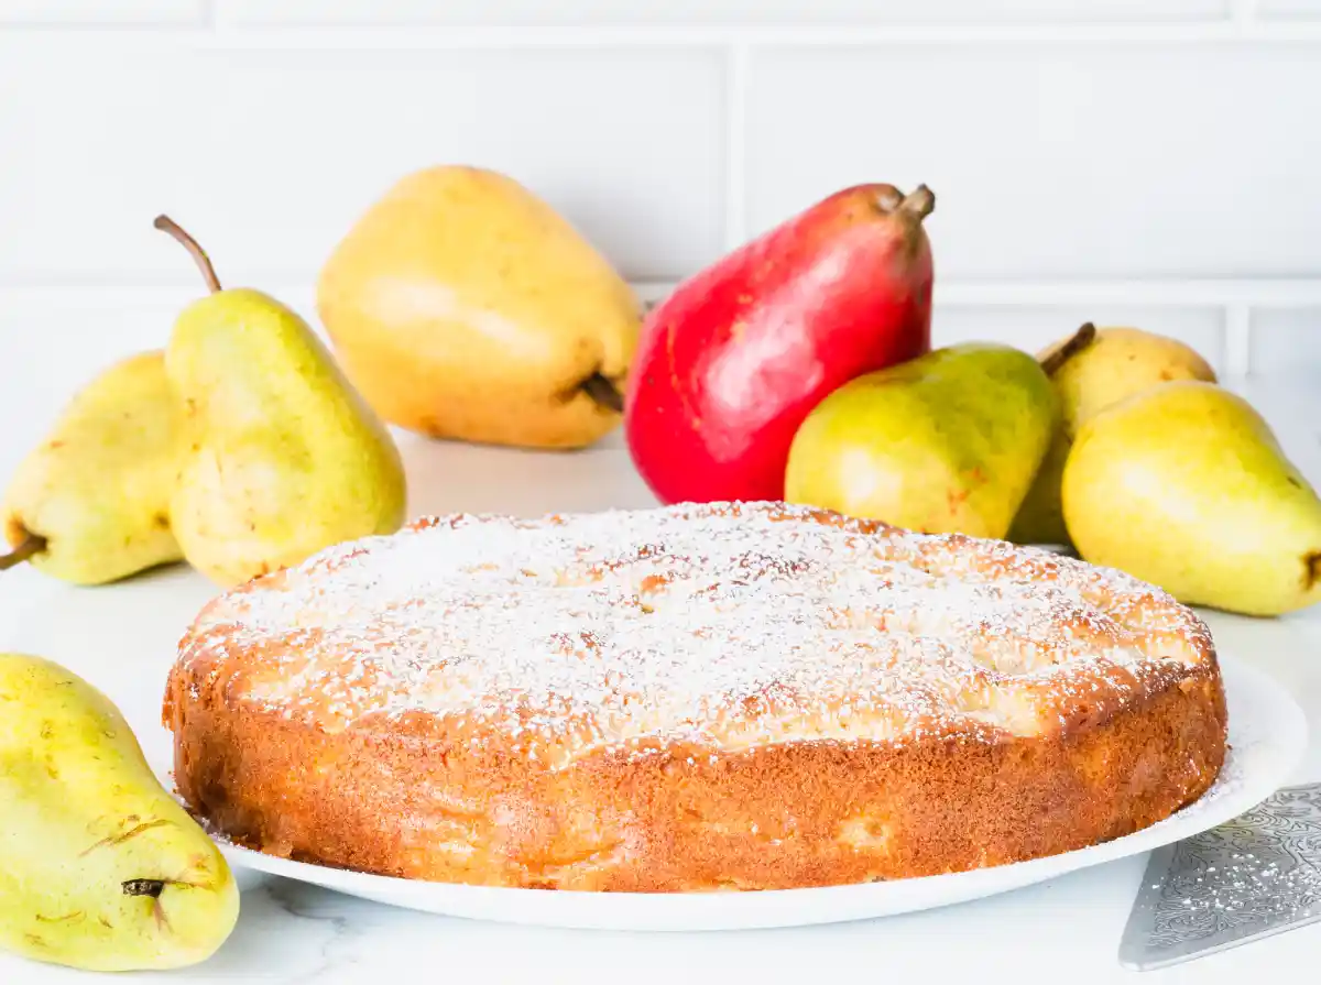
[[259,25],[688,25],[1164,22],[1225,16],[1229,0],[217,0]]

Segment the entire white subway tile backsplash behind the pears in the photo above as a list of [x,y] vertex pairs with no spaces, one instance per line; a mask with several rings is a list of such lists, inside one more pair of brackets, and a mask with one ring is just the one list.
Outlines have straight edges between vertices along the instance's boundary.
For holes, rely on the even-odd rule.
[[362,209],[450,161],[649,293],[847,184],[925,181],[938,345],[1090,318],[1316,379],[1318,25],[1321,0],[0,0],[0,334],[55,392],[155,337],[197,289],[159,211],[310,310]]

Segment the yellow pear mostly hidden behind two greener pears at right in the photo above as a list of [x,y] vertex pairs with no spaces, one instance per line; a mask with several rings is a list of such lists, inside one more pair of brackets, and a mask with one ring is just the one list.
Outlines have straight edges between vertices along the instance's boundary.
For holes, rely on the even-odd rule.
[[1096,329],[1089,322],[1038,358],[1059,396],[1059,426],[1041,470],[1009,529],[1020,544],[1069,544],[1059,506],[1059,479],[1078,428],[1118,400],[1168,380],[1215,382],[1215,371],[1178,339],[1133,327]]

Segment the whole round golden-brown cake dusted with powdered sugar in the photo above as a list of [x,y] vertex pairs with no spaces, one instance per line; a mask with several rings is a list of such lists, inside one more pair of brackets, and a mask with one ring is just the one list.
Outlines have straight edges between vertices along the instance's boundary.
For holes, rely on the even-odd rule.
[[238,844],[563,890],[900,879],[1092,845],[1226,750],[1206,626],[1045,551],[781,503],[453,515],[211,601],[164,720]]

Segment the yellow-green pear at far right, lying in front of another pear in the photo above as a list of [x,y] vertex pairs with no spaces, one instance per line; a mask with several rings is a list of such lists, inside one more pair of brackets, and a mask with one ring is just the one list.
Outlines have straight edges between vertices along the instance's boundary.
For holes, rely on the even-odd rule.
[[1186,605],[1280,615],[1321,601],[1321,499],[1251,404],[1213,383],[1162,383],[1091,417],[1062,498],[1085,560]]

